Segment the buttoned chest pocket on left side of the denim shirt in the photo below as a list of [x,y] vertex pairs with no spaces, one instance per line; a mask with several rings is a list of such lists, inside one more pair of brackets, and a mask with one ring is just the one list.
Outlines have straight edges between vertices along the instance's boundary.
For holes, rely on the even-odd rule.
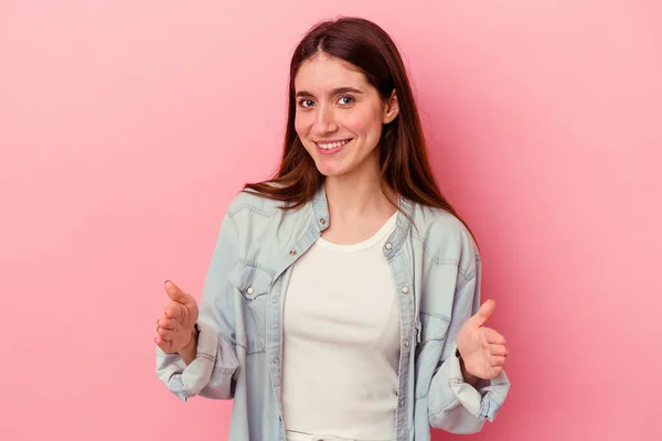
[[247,354],[265,351],[267,298],[271,275],[258,267],[238,262],[228,275],[235,289],[235,326],[237,344]]

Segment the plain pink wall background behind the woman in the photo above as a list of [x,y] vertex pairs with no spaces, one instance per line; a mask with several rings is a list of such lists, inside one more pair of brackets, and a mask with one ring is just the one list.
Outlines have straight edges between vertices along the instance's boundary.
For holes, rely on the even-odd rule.
[[295,44],[359,14],[404,53],[510,342],[470,439],[662,440],[660,3],[330,3],[0,1],[0,439],[226,438],[231,402],[156,377],[162,282],[199,295],[276,166]]

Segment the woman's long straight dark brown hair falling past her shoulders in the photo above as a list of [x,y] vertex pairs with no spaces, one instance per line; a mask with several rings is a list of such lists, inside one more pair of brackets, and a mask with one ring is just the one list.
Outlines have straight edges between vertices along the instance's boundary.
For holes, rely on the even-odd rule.
[[382,185],[392,187],[412,202],[445,209],[462,220],[435,181],[414,94],[397,47],[382,28],[361,18],[324,21],[303,36],[290,63],[288,116],[280,166],[271,180],[246,184],[245,190],[286,202],[284,208],[291,209],[309,202],[324,182],[324,176],[295,130],[295,77],[301,64],[319,53],[357,66],[384,100],[396,90],[399,114],[383,126],[378,147]]

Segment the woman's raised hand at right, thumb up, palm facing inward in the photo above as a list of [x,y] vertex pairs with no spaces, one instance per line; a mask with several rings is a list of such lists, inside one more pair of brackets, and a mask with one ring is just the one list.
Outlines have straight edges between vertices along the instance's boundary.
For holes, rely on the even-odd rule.
[[495,308],[496,303],[493,300],[484,302],[480,310],[467,320],[457,337],[463,370],[478,378],[496,378],[503,372],[508,357],[509,351],[503,335],[484,326]]

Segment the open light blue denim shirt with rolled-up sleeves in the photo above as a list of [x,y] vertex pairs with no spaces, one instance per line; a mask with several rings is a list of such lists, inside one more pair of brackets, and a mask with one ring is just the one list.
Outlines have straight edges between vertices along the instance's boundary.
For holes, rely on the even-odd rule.
[[[297,211],[279,204],[248,193],[234,198],[204,283],[196,358],[186,366],[157,347],[157,375],[179,398],[234,399],[229,434],[220,440],[285,441],[282,301],[292,263],[329,227],[329,211],[323,187]],[[510,389],[505,373],[473,388],[456,357],[456,336],[480,306],[478,248],[451,214],[403,197],[399,208],[383,247],[402,335],[397,440],[429,440],[430,427],[478,432]]]

